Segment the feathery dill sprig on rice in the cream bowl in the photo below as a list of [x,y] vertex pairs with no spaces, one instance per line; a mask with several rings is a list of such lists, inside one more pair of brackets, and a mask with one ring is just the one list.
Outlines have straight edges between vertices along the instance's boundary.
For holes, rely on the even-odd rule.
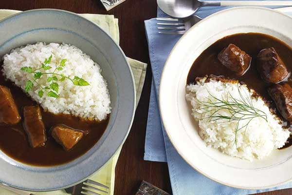
[[[257,109],[253,105],[252,96],[250,94],[246,94],[246,98],[243,97],[241,94],[239,87],[238,87],[238,93],[239,98],[234,98],[229,92],[222,96],[222,99],[214,97],[209,91],[209,95],[211,98],[207,98],[208,101],[199,101],[197,100],[197,103],[202,106],[202,108],[197,109],[203,110],[202,114],[209,113],[206,118],[209,121],[215,121],[216,123],[224,123],[224,122],[231,122],[231,121],[237,121],[235,126],[235,144],[237,145],[237,132],[244,129],[244,136],[243,140],[245,138],[246,129],[249,125],[249,123],[256,117],[261,117],[265,121],[268,121],[266,113],[263,111]],[[212,108],[209,110],[209,108]],[[221,115],[219,113],[220,110],[227,110],[228,115]],[[222,120],[222,121],[219,121]],[[246,120],[244,126],[239,127],[239,121]]]

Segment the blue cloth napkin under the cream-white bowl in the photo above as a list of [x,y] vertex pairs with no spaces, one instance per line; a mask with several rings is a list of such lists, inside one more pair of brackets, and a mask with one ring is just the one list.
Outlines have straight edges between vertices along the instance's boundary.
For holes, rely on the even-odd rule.
[[[204,7],[201,8],[196,15],[204,18],[223,9],[222,7]],[[157,13],[158,17],[166,16],[159,8]],[[163,124],[160,120],[157,98],[164,63],[173,46],[181,36],[165,36],[158,34],[156,19],[146,20],[145,27],[153,80],[151,85],[144,159],[168,163],[173,195],[248,195],[292,188],[292,183],[265,190],[242,190],[228,187],[201,175],[183,160],[172,146],[164,131]]]

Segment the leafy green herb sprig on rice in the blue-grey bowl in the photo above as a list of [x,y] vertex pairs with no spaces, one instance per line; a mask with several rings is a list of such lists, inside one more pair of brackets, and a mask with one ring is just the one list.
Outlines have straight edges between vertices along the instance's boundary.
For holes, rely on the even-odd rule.
[[[47,93],[47,95],[49,97],[53,97],[53,98],[58,98],[59,95],[59,82],[64,81],[65,79],[69,79],[72,81],[72,83],[74,85],[77,86],[88,86],[89,83],[84,80],[83,78],[79,78],[79,77],[74,77],[74,78],[70,78],[69,76],[66,76],[64,74],[58,74],[56,73],[56,71],[62,71],[63,68],[66,66],[66,61],[67,59],[62,59],[60,61],[59,64],[55,64],[55,70],[53,72],[50,73],[46,73],[46,72],[41,72],[41,70],[50,70],[52,69],[52,66],[50,66],[51,61],[52,61],[52,55],[49,57],[49,59],[45,59],[44,63],[41,64],[41,68],[37,68],[37,69],[33,69],[30,66],[26,66],[26,67],[22,67],[20,70],[27,72],[27,73],[31,73],[34,75],[34,80],[27,80],[25,83],[25,92],[29,92],[34,86],[39,86],[41,89],[38,91],[38,96],[40,98],[43,97],[44,92]],[[42,87],[38,82],[37,79],[41,78],[43,75],[48,75],[49,77],[47,78],[47,83],[48,86]]]

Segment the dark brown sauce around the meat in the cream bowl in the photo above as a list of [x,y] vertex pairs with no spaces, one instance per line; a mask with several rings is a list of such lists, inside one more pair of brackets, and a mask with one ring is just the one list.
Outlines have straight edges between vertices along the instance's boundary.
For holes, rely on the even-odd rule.
[[[230,43],[235,44],[241,50],[245,51],[252,57],[249,70],[241,77],[223,66],[217,56],[219,52],[227,47]],[[247,84],[248,87],[254,89],[257,94],[267,100],[273,112],[281,117],[275,109],[273,99],[268,94],[268,87],[272,84],[267,83],[260,78],[256,69],[257,54],[265,48],[274,47],[287,69],[292,73],[292,48],[283,41],[276,39],[272,36],[261,33],[239,33],[219,39],[194,61],[187,77],[187,84],[194,83],[195,78],[204,77],[205,75],[224,76],[225,78],[234,78]],[[288,84],[292,86],[292,76],[287,80]],[[281,117],[282,118],[282,117]],[[292,138],[288,139],[288,143],[283,148],[292,145]]]

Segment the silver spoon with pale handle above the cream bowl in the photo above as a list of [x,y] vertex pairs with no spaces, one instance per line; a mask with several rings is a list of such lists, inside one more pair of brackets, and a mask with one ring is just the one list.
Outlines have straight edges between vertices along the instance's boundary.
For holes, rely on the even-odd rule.
[[186,18],[204,6],[292,6],[292,1],[157,0],[160,9],[174,18]]

